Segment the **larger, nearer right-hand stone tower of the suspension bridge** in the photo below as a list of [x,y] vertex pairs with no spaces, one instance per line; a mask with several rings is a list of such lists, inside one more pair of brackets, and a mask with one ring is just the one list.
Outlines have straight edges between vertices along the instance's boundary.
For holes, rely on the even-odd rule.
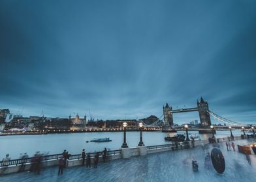
[[208,103],[204,101],[202,97],[200,99],[200,102],[197,100],[197,107],[199,109],[199,118],[200,118],[201,125],[204,125],[204,126],[212,125],[210,114],[207,112],[207,110],[209,110]]

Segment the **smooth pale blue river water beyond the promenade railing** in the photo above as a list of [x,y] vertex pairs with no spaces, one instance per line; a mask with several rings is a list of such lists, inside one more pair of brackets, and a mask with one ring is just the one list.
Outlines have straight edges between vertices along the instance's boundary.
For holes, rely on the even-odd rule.
[[[184,133],[179,131],[178,133]],[[189,131],[189,133],[198,133]],[[232,131],[233,135],[241,135],[240,130]],[[229,136],[230,131],[217,131],[217,138]],[[144,132],[143,142],[146,146],[169,144],[164,138],[167,133],[161,131]],[[207,139],[212,135],[200,135],[202,139]],[[112,142],[95,143],[88,142],[93,138],[110,137]],[[136,147],[139,142],[139,132],[127,132],[127,144],[129,147]],[[56,154],[62,153],[67,149],[71,154],[78,154],[83,148],[86,152],[103,151],[107,149],[119,149],[123,143],[123,132],[103,132],[103,133],[69,133],[69,134],[50,134],[50,135],[16,135],[0,136],[0,160],[5,157],[6,153],[10,154],[11,159],[17,159],[20,153],[27,152],[32,156],[36,151],[41,153]]]

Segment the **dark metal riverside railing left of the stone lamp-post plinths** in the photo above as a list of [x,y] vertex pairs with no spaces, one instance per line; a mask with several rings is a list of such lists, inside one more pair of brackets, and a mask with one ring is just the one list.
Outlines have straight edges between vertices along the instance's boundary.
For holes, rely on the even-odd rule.
[[[91,155],[91,157],[94,157],[97,152],[89,152],[86,153],[86,155]],[[121,154],[121,149],[116,150],[109,150],[107,151],[106,155],[118,155]],[[103,151],[99,152],[99,156],[103,156]],[[29,157],[25,159],[12,159],[10,161],[0,161],[0,167],[1,166],[18,166],[19,164],[29,164],[37,161],[50,161],[50,160],[57,160],[63,157],[62,153],[54,154],[54,155],[37,155],[34,157]],[[79,160],[82,159],[81,154],[76,155],[69,155],[69,160]]]

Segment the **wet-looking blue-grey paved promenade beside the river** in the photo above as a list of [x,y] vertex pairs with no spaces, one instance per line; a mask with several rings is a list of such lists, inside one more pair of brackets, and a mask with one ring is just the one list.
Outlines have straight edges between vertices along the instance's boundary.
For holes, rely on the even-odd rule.
[[[249,144],[253,141],[239,140],[235,144]],[[209,145],[209,151],[212,146]],[[77,166],[63,170],[57,175],[57,166],[45,168],[41,174],[17,173],[4,175],[0,181],[255,181],[256,156],[250,155],[251,165],[246,156],[238,151],[227,151],[225,143],[220,143],[226,162],[223,174],[217,174],[211,167],[204,168],[205,153],[202,148],[183,149],[155,153],[146,157],[118,159],[100,163],[97,169]],[[236,147],[237,149],[237,147]],[[191,161],[199,162],[199,172],[193,172]]]

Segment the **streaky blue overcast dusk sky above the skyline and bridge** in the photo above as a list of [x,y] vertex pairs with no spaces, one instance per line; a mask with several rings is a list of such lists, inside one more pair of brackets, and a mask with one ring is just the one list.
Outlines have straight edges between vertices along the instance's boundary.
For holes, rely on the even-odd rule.
[[[0,109],[256,123],[256,1],[0,1]],[[198,112],[174,123],[199,120]]]

